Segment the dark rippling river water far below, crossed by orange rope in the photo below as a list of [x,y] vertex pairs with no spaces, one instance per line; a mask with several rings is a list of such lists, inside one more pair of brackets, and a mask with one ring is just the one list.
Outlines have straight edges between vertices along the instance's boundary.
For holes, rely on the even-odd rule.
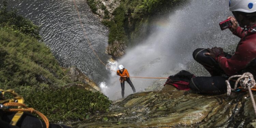
[[[86,41],[73,0],[8,0],[18,14],[40,25],[40,35],[62,67],[72,65],[97,84],[106,81],[108,71]],[[100,59],[106,62],[108,28],[90,10],[86,0],[76,0],[86,34]]]

